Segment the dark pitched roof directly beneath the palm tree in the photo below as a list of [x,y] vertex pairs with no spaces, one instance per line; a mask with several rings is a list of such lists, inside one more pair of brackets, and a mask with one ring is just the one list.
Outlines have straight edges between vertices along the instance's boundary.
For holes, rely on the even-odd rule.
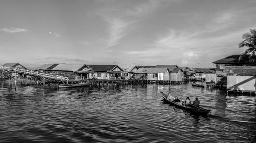
[[246,63],[249,58],[249,54],[245,54],[242,61],[238,61],[241,54],[229,55],[226,58],[220,59],[218,61],[212,62],[214,64],[230,64],[230,63]]

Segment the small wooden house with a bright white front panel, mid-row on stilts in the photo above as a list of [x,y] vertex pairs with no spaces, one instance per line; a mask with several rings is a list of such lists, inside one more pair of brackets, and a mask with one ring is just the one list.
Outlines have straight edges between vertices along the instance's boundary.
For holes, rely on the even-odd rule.
[[168,68],[147,68],[147,80],[169,81]]

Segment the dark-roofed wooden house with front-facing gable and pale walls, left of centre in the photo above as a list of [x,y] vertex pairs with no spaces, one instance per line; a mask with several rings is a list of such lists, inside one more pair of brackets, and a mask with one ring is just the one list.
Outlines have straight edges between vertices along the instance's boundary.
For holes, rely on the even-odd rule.
[[127,76],[125,72],[118,65],[88,65],[92,69],[92,72],[89,72],[89,79],[123,79]]

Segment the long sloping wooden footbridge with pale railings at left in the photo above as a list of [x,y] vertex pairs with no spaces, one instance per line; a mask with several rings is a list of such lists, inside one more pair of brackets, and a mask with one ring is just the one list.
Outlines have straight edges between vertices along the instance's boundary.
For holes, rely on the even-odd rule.
[[52,74],[42,73],[42,72],[33,71],[33,70],[20,69],[17,67],[0,66],[0,71],[2,71],[3,74],[10,72],[10,73],[19,73],[19,74],[30,75],[30,76],[34,76],[34,77],[41,77],[42,79],[52,79],[52,80],[57,80],[57,81],[62,81],[62,82],[67,82],[67,83],[69,81],[68,77],[52,75]]

